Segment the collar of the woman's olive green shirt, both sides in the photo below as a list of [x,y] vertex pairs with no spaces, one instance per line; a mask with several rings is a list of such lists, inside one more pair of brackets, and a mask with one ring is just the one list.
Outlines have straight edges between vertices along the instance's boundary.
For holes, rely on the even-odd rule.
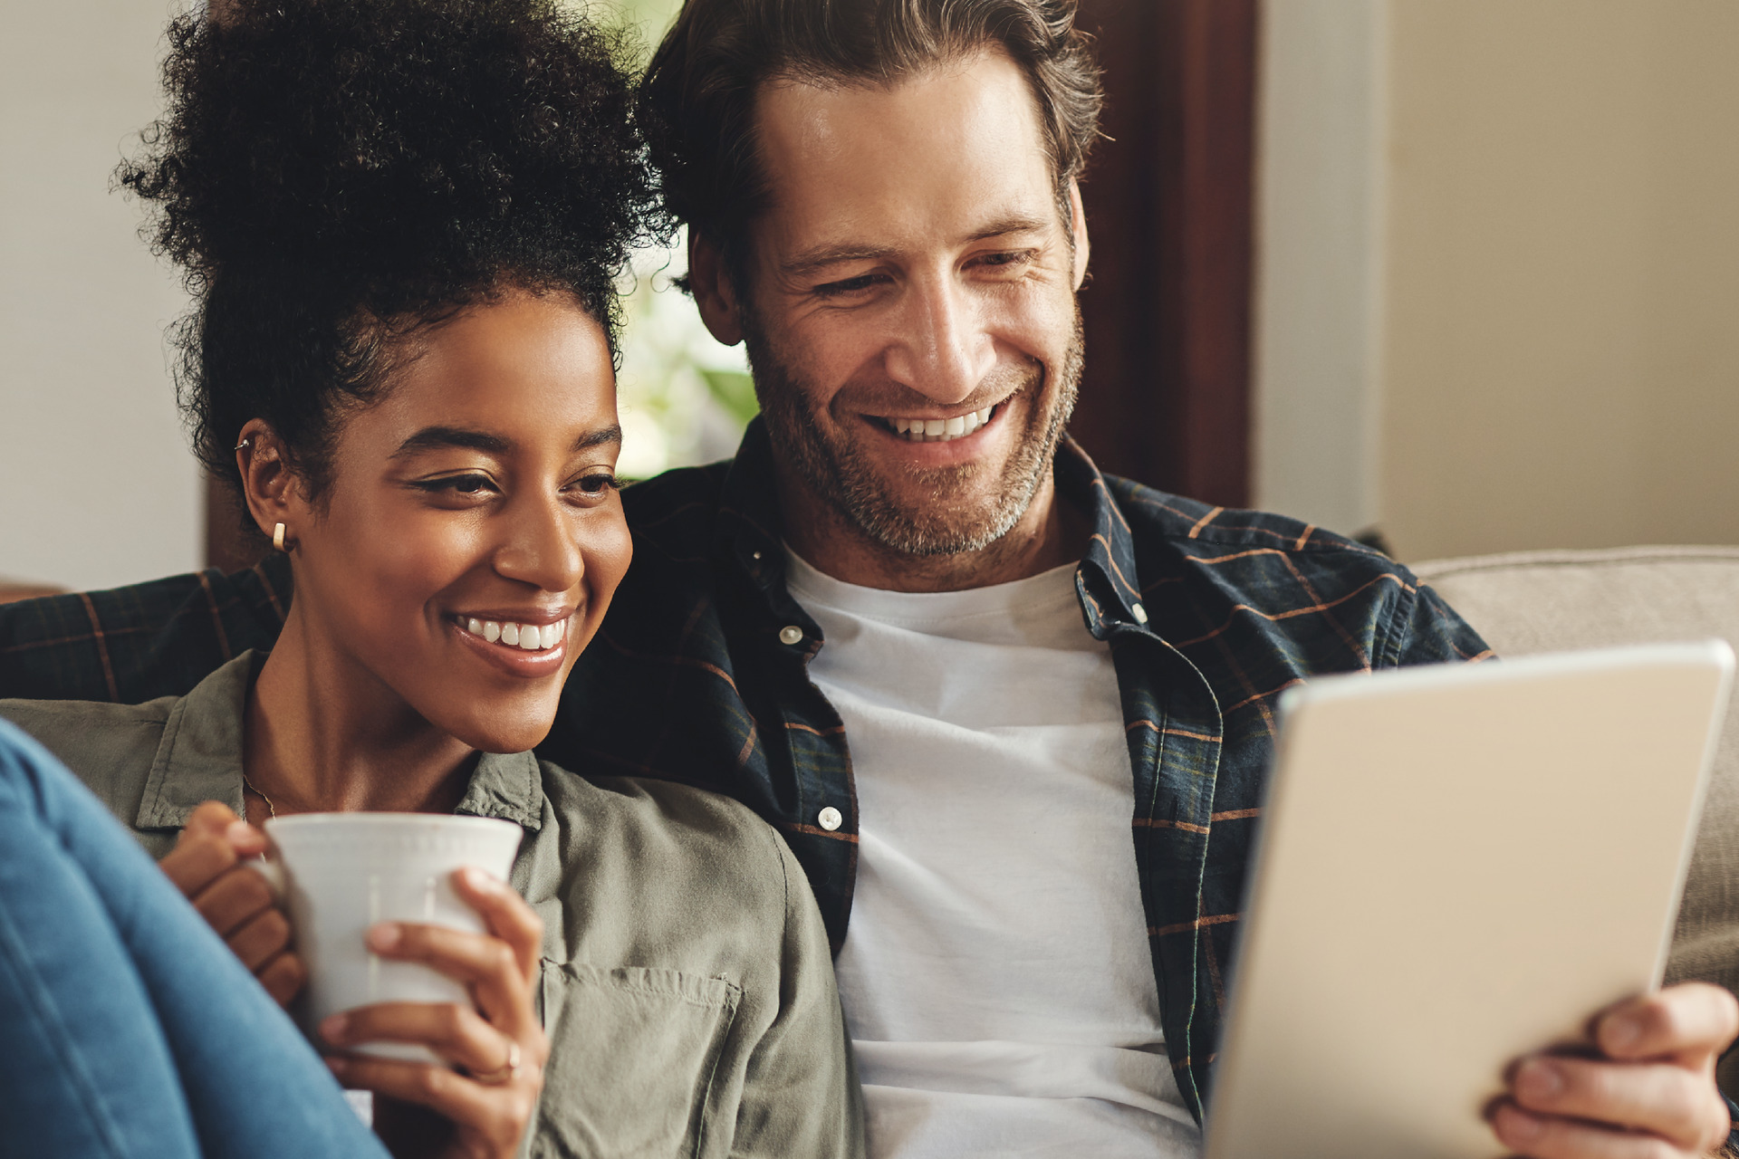
[[[223,801],[240,817],[242,723],[247,692],[266,653],[247,650],[176,700],[144,782],[137,829],[184,829],[205,801]],[[543,824],[543,777],[530,752],[485,752],[457,813],[499,817],[525,829]]]

